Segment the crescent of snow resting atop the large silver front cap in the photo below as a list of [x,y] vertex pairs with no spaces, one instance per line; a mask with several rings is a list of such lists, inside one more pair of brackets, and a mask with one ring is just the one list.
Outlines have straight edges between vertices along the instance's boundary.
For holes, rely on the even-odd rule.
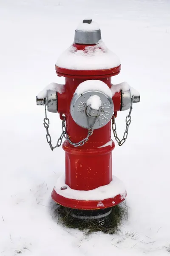
[[79,96],[87,91],[97,90],[112,98],[112,93],[107,84],[100,80],[86,80],[79,84],[75,93]]

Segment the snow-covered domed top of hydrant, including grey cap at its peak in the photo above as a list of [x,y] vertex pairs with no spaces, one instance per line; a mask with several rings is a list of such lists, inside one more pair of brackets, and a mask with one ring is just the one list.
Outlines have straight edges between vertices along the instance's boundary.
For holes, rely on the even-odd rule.
[[105,46],[99,25],[92,20],[79,23],[74,44],[59,56],[56,63],[57,67],[69,70],[105,70],[119,65],[119,57]]

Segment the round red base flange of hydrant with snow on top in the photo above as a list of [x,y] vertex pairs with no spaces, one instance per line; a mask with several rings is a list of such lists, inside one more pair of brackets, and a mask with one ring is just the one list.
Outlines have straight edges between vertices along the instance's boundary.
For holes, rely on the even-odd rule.
[[[110,184],[88,191],[71,189],[65,184],[64,180],[64,175],[59,177],[57,185],[52,191],[51,197],[57,204],[72,209],[92,210],[113,207],[124,201],[127,195],[122,181],[115,176],[113,176],[113,180]],[[93,194],[97,195],[97,198],[102,199],[91,199]],[[108,195],[108,198],[103,199],[105,197],[104,195],[106,195],[106,197]],[[80,197],[87,199],[80,200]]]

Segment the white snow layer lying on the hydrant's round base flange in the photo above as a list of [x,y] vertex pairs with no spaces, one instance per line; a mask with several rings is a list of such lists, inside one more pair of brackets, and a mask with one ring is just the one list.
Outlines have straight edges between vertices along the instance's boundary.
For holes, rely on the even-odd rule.
[[[61,189],[62,186],[66,186],[67,189]],[[100,186],[93,190],[75,190],[71,189],[65,184],[65,175],[58,178],[57,184],[54,187],[57,194],[66,198],[72,198],[77,200],[104,200],[107,198],[113,198],[116,195],[126,195],[125,185],[116,176],[113,176],[113,180],[105,186]],[[99,205],[102,206],[102,205]]]

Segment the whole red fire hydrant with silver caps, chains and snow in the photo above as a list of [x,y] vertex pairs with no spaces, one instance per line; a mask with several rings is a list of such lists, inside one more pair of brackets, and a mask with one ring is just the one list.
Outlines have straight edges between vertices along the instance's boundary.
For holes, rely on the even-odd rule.
[[[65,77],[65,85],[51,83],[37,96],[37,105],[45,105],[44,127],[51,150],[65,138],[65,175],[57,180],[52,198],[75,209],[78,219],[100,220],[127,194],[123,183],[112,176],[115,143],[111,140],[111,125],[116,141],[122,145],[127,139],[133,103],[139,102],[140,96],[126,82],[111,83],[111,77],[121,70],[120,61],[102,42],[99,26],[91,19],[79,24],[74,44],[62,53],[55,69],[58,76]],[[59,113],[62,120],[62,134],[54,147],[46,108]],[[117,111],[128,109],[120,140],[115,117]]]

